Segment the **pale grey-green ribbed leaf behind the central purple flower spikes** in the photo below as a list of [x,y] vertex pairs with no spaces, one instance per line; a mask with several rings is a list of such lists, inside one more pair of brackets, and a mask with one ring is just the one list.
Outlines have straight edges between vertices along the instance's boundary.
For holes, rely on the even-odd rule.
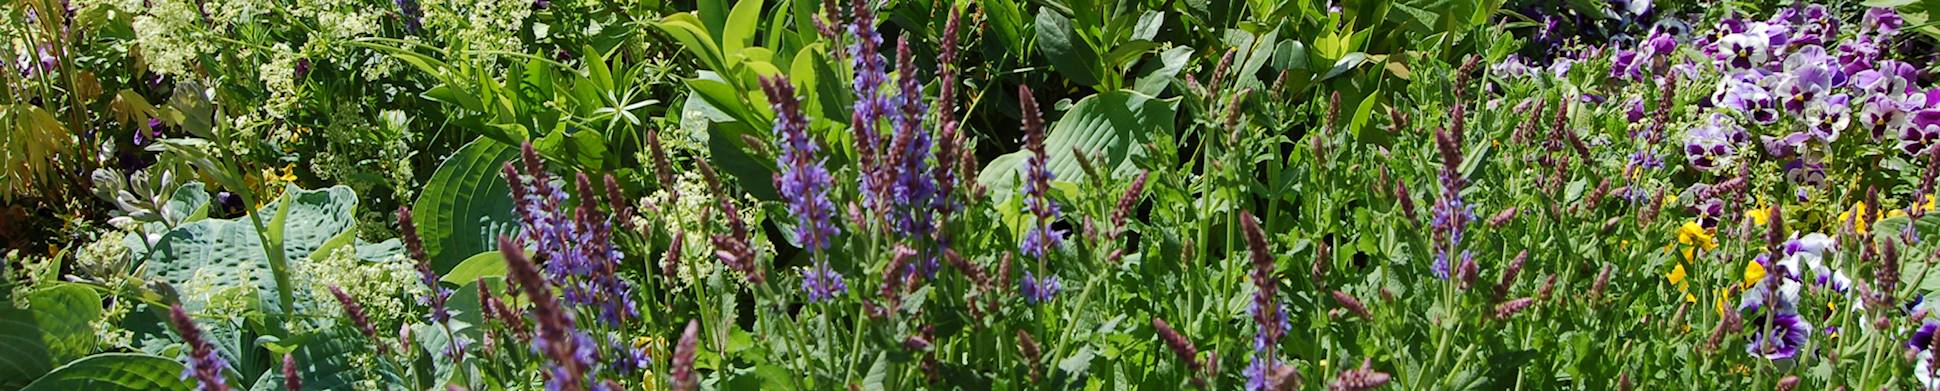
[[[1145,157],[1145,143],[1154,134],[1172,134],[1178,101],[1154,99],[1135,91],[1110,91],[1090,95],[1071,106],[1063,120],[1051,124],[1044,139],[1044,153],[1050,155],[1051,174],[1063,182],[1083,182],[1084,168],[1079,166],[1073,149],[1084,151],[1102,170],[1125,178],[1137,174],[1133,161]],[[1007,153],[984,166],[978,182],[991,190],[993,197],[1009,197],[1022,176],[1024,157],[1030,151]]]

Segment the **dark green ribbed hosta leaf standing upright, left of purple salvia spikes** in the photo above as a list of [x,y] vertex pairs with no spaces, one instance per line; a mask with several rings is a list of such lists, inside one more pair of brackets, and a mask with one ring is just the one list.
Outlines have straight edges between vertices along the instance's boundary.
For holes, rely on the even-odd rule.
[[473,139],[425,182],[411,211],[433,271],[452,271],[466,257],[497,250],[499,236],[518,234],[512,188],[501,178],[501,166],[514,157],[510,145]]

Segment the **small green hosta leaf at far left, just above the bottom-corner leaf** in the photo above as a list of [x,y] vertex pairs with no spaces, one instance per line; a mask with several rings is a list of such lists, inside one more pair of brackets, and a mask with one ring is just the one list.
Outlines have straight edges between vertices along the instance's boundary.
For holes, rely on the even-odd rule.
[[95,352],[93,321],[101,319],[101,294],[93,288],[60,283],[27,294],[27,302],[54,362]]

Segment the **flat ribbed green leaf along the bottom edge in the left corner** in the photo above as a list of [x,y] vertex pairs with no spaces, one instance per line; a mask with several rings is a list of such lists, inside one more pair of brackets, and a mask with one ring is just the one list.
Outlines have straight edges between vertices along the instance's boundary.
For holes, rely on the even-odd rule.
[[147,389],[194,389],[196,385],[182,379],[182,362],[140,354],[140,352],[105,352],[93,354],[54,372],[41,376],[21,391],[68,391],[68,389],[95,389],[95,391],[147,391]]

